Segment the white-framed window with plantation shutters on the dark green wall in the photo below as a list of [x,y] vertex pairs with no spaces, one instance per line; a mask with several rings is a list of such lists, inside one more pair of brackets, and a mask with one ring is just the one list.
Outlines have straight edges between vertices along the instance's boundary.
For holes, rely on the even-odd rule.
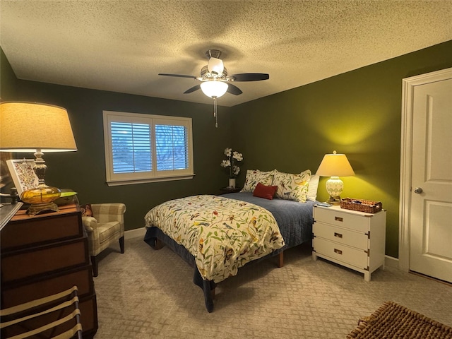
[[191,118],[104,111],[109,186],[191,179]]

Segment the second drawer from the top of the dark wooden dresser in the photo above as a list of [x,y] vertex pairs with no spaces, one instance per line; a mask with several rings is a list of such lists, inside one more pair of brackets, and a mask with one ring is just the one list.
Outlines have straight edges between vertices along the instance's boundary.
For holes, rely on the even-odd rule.
[[12,251],[1,256],[1,283],[89,264],[86,238]]

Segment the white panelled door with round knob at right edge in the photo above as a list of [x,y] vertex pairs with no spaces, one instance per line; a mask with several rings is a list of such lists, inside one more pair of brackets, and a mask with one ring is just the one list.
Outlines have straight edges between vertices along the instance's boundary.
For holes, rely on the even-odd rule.
[[413,88],[410,270],[452,283],[452,70]]

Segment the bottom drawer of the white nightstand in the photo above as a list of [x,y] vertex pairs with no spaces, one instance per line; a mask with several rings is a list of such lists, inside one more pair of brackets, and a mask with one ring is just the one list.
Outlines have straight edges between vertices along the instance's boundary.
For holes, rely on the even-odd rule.
[[321,238],[314,238],[312,244],[314,246],[314,251],[316,251],[317,254],[323,254],[324,256],[348,263],[358,268],[364,269],[369,267],[369,257],[367,256],[367,253],[362,250],[353,249],[352,247],[336,244]]

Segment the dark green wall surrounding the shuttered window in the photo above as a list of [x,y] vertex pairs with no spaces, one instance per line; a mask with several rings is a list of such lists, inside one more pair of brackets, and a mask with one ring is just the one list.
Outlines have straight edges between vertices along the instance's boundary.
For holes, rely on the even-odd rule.
[[[3,52],[1,52],[3,55]],[[3,61],[3,59],[2,59]],[[11,68],[1,64],[1,78]],[[230,145],[230,108],[218,107],[219,126],[215,129],[213,104],[202,105],[177,100],[127,95],[73,88],[34,81],[5,81],[2,100],[44,102],[67,109],[78,150],[46,153],[46,183],[78,192],[81,203],[123,202],[126,204],[126,230],[144,226],[145,213],[163,201],[194,194],[218,194],[227,186],[227,174],[220,162]],[[3,83],[2,83],[3,85]],[[11,86],[16,86],[14,90]],[[8,90],[6,90],[8,88]],[[191,117],[194,135],[194,179],[124,186],[107,186],[102,110]],[[41,121],[42,133],[58,126]],[[33,158],[32,153],[14,157]]]

